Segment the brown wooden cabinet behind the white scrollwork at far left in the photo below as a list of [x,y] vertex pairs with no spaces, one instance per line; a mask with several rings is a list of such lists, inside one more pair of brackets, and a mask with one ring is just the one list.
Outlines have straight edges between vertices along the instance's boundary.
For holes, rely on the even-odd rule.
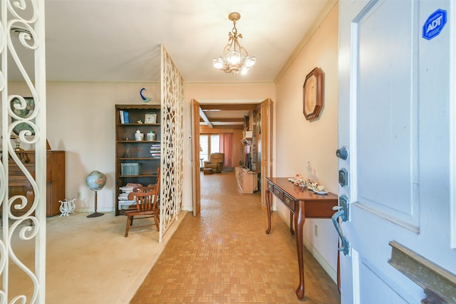
[[[35,151],[18,152],[28,172],[35,176]],[[9,194],[25,195],[29,204],[33,201],[33,189],[21,169],[10,160],[9,163]],[[65,199],[65,151],[46,152],[46,216],[60,214],[58,201]],[[18,201],[19,203],[19,201]],[[26,210],[16,211],[21,214]]]

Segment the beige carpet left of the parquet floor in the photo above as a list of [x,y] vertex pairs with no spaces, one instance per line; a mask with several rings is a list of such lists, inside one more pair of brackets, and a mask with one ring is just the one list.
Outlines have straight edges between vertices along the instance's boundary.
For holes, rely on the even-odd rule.
[[[125,216],[106,213],[53,216],[47,219],[46,303],[128,303],[162,253],[187,211],[182,211],[158,243],[155,226],[132,229],[125,238]],[[191,215],[190,215],[191,216]],[[142,219],[139,221],[153,221]],[[15,238],[14,250],[33,270],[34,248]],[[11,266],[9,300],[32,293],[32,283]]]

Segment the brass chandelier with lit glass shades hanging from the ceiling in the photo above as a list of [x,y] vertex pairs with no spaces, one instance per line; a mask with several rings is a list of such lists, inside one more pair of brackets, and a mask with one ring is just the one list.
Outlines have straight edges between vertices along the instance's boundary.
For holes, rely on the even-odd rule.
[[237,38],[242,38],[242,33],[237,33],[236,21],[241,19],[241,14],[231,13],[228,19],[233,21],[233,28],[228,33],[228,44],[223,49],[223,56],[214,58],[214,68],[223,70],[225,73],[246,74],[247,71],[254,67],[257,58],[249,56],[247,50],[243,48]]

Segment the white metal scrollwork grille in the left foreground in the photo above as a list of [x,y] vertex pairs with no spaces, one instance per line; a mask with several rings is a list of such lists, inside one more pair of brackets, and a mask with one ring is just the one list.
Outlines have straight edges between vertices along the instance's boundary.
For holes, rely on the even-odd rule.
[[[0,90],[1,156],[0,303],[45,303],[46,287],[46,69],[44,53],[44,1],[1,0]],[[33,60],[30,61],[30,58]],[[24,67],[23,62],[31,62]],[[30,64],[30,63],[29,63]],[[12,78],[18,72],[19,78]],[[10,90],[9,80],[24,83],[21,92]],[[27,92],[27,93],[24,93]],[[13,146],[14,142],[14,146]],[[29,159],[20,145],[34,150]],[[34,162],[34,172],[26,169]],[[9,175],[19,176],[19,181]],[[26,184],[30,194],[14,194]],[[43,189],[43,191],[41,191]],[[11,192],[11,193],[10,193]],[[35,258],[22,261],[21,248]],[[19,255],[21,253],[21,255]],[[28,259],[30,260],[30,259]],[[21,285],[10,284],[21,278]],[[30,285],[24,289],[22,286]]]

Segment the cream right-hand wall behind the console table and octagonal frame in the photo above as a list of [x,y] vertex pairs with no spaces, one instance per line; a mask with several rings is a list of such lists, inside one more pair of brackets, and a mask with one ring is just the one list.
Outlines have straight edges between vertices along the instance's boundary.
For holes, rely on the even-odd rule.
[[[320,118],[309,122],[303,114],[302,88],[306,75],[315,67],[324,72],[323,110]],[[316,28],[299,55],[277,83],[276,176],[307,176],[311,162],[314,179],[329,191],[338,193],[337,92],[338,92],[338,6]],[[276,209],[289,223],[289,211],[283,204]],[[318,237],[314,226],[318,226]],[[336,279],[338,236],[331,219],[306,219],[304,243],[318,261]]]

